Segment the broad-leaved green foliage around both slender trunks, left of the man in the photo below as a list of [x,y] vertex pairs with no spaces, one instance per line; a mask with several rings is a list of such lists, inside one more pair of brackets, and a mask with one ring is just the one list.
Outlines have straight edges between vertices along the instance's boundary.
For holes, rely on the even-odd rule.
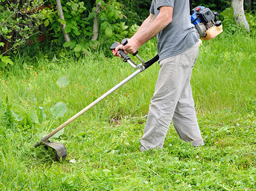
[[[98,1],[96,1],[97,3]],[[107,41],[106,46],[112,44],[118,37],[129,36],[134,30],[126,26],[123,20],[127,20],[122,12],[123,5],[115,0],[108,2],[101,1],[101,11],[99,18],[100,24],[100,44],[102,41]],[[84,2],[65,1],[63,5],[64,21],[58,19],[57,11],[52,12],[50,18],[44,24],[49,26],[49,31],[53,33],[54,40],[52,43],[58,43],[63,40],[59,22],[66,24],[65,32],[71,37],[71,42],[64,43],[65,48],[70,48],[76,56],[88,54],[93,49],[96,49],[99,41],[91,41],[93,32],[93,19],[97,15],[95,12],[96,7],[88,10]],[[115,35],[114,35],[115,34]]]

